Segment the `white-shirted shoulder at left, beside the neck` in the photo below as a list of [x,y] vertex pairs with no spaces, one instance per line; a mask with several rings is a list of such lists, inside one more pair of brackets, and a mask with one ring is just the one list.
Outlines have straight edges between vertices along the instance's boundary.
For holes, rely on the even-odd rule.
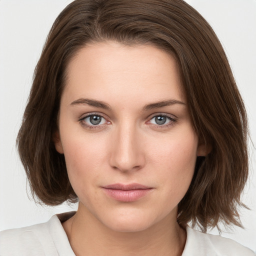
[[0,232],[1,256],[54,256],[63,255],[63,250],[74,255],[57,215],[45,223]]

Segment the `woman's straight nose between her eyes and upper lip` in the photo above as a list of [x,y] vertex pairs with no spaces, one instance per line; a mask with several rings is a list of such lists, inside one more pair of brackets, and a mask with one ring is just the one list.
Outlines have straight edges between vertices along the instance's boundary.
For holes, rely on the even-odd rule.
[[110,165],[122,172],[139,170],[145,164],[143,141],[138,128],[132,125],[116,127],[111,137]]

